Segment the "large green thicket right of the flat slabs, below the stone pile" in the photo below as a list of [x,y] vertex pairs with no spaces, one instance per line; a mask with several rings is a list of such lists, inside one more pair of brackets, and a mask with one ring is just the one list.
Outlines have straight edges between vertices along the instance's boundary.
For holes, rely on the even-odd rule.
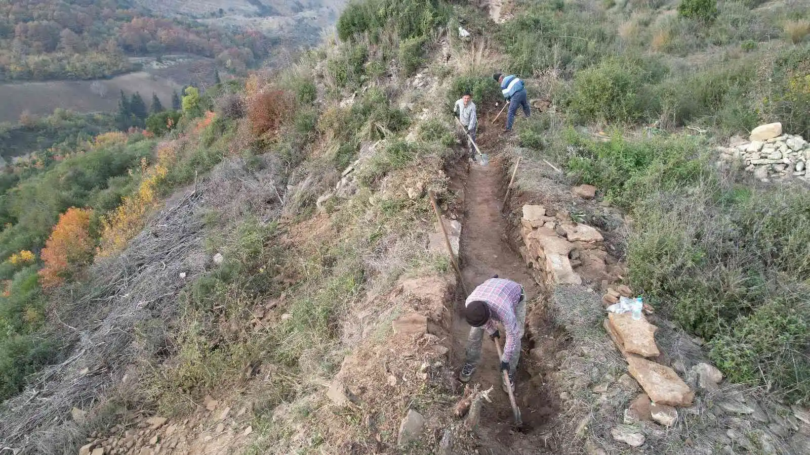
[[633,286],[706,338],[731,381],[797,402],[810,399],[808,198],[704,174],[634,200],[627,252]]

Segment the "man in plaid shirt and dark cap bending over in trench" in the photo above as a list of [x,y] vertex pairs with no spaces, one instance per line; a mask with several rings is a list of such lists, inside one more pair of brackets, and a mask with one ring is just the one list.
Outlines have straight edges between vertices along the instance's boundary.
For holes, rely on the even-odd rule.
[[501,322],[506,333],[501,371],[509,372],[509,382],[514,390],[514,372],[518,368],[520,340],[526,325],[526,294],[523,287],[510,279],[499,279],[495,275],[476,287],[467,297],[464,306],[464,315],[472,328],[467,339],[467,359],[458,379],[465,383],[470,381],[475,366],[481,359],[484,330],[490,338],[500,338],[497,322]]

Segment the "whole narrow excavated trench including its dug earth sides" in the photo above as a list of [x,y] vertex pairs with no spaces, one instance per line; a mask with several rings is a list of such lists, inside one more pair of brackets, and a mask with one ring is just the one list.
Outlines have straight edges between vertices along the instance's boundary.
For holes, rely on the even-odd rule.
[[[485,140],[480,141],[480,147],[491,149]],[[480,383],[481,389],[493,385],[494,393],[492,403],[484,406],[477,435],[480,447],[487,449],[485,453],[554,453],[557,448],[552,427],[559,403],[553,385],[547,381],[551,368],[543,366],[549,363],[538,359],[546,355],[553,358],[562,340],[559,331],[543,317],[546,289],[535,282],[520,254],[509,245],[509,223],[501,215],[506,185],[502,162],[501,157],[490,152],[488,166],[464,163],[447,169],[450,189],[463,194],[463,201],[459,201],[455,208],[463,213],[459,262],[467,291],[498,274],[501,278],[521,283],[527,293],[527,334],[521,343],[515,393],[524,425],[520,432],[514,431],[511,425],[513,415],[508,395],[501,389],[497,352],[493,343],[484,338],[481,362],[471,385]],[[454,339],[452,355],[457,371],[463,365],[470,330],[463,317],[465,298],[459,287],[452,308],[451,329]]]

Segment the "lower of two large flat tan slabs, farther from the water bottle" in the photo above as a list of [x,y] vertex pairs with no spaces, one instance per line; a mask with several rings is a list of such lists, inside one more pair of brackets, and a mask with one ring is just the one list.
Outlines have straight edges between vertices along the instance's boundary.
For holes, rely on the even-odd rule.
[[630,356],[627,362],[630,374],[652,401],[670,406],[692,404],[695,393],[672,368],[637,356]]

